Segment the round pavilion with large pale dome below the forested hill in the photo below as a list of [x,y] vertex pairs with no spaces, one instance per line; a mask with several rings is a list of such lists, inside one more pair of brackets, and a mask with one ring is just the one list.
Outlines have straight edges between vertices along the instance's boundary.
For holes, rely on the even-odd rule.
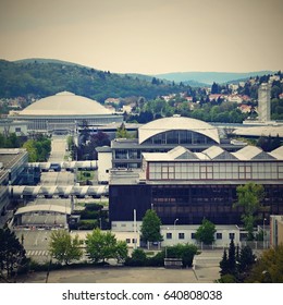
[[73,93],[62,91],[37,100],[13,119],[27,121],[29,131],[74,131],[83,122],[91,126],[123,122],[99,102]]

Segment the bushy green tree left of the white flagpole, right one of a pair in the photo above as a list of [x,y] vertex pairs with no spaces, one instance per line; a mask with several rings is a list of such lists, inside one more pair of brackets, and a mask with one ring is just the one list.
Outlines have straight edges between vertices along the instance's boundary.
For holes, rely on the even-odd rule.
[[86,252],[95,264],[104,263],[109,258],[123,261],[127,256],[127,245],[125,242],[118,242],[111,232],[103,233],[100,229],[95,229],[86,236]]

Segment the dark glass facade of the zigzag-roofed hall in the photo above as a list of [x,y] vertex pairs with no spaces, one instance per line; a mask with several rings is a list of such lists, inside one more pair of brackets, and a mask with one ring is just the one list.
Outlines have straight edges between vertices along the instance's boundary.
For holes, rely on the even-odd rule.
[[[147,209],[153,208],[162,224],[199,224],[204,217],[214,224],[241,224],[241,208],[234,208],[238,184],[159,184],[110,185],[110,221],[132,221],[133,210],[142,221]],[[283,185],[263,184],[263,208],[259,219],[283,215]],[[261,222],[261,220],[260,220]]]

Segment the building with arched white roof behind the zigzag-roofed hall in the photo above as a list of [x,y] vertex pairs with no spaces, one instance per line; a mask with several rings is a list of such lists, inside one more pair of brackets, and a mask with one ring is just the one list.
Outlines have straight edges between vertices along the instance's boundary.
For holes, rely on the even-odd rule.
[[110,149],[102,148],[99,163],[111,166],[98,167],[99,176],[108,180],[111,168],[140,169],[143,152],[167,152],[177,145],[190,151],[201,151],[212,145],[236,151],[246,144],[220,137],[216,126],[200,120],[180,115],[163,118],[139,126],[136,138],[115,138]]

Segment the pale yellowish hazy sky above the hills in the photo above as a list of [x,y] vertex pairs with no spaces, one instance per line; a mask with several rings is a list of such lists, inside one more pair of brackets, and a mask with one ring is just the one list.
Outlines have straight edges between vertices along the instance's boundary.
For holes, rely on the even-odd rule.
[[282,0],[0,0],[0,59],[115,73],[283,70]]

